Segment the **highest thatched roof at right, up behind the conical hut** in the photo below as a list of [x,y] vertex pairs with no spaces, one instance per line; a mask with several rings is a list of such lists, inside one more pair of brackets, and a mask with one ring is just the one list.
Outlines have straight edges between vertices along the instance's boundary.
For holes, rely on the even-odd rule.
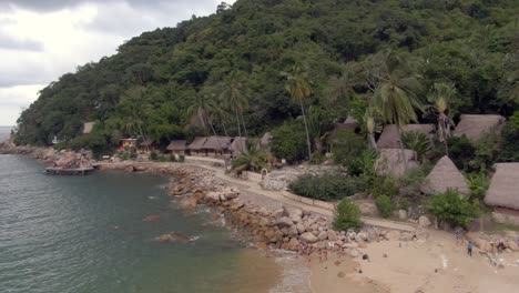
[[454,137],[466,135],[471,141],[479,141],[490,132],[500,132],[506,119],[502,115],[461,115],[452,132]]

